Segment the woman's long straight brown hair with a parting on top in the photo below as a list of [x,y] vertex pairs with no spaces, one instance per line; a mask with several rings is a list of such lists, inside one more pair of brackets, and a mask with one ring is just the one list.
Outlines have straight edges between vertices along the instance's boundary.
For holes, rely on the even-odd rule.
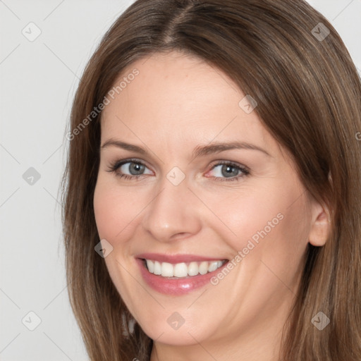
[[[250,94],[305,188],[331,209],[326,244],[308,245],[280,360],[360,361],[361,82],[334,27],[302,0],[138,0],[87,63],[62,191],[68,292],[90,359],[145,361],[152,350],[139,325],[128,329],[132,316],[94,251],[102,116],[94,108],[126,66],[172,50],[216,66]],[[330,319],[322,331],[311,322],[317,312]]]

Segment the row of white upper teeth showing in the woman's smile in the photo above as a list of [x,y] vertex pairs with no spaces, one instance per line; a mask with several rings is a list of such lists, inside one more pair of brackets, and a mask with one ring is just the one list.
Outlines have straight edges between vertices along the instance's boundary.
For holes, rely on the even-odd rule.
[[211,262],[190,262],[186,264],[176,263],[171,264],[168,262],[152,261],[146,259],[148,271],[152,274],[159,274],[164,277],[185,277],[197,276],[197,274],[207,274],[207,272],[215,271],[221,267],[225,261],[211,261]]

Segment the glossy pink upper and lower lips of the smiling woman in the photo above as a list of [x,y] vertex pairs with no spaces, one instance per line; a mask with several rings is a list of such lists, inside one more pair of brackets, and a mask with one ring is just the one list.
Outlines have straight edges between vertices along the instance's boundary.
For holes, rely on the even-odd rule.
[[[152,255],[152,257],[150,257]],[[139,255],[140,256],[140,255]],[[144,255],[142,255],[144,256]],[[216,259],[204,259],[204,257],[190,257],[190,255],[185,256],[161,256],[159,258],[154,258],[154,254],[147,254],[147,259],[158,260],[159,262],[169,262],[169,263],[180,263],[180,262],[192,262],[196,260],[216,260]],[[145,258],[145,257],[144,257]],[[175,261],[176,259],[176,261]],[[173,261],[173,262],[170,262]],[[140,274],[142,274],[143,279],[147,283],[148,286],[153,288],[159,293],[163,293],[165,295],[185,295],[188,292],[192,292],[192,290],[196,290],[197,288],[201,288],[205,286],[207,283],[210,283],[210,279],[219,273],[224,267],[226,267],[227,262],[216,269],[215,271],[209,272],[207,274],[198,274],[197,276],[188,276],[188,278],[180,278],[180,279],[171,279],[168,277],[159,276],[157,274],[151,274],[147,268],[145,267],[145,261],[141,258],[136,258],[136,262],[140,267]]]

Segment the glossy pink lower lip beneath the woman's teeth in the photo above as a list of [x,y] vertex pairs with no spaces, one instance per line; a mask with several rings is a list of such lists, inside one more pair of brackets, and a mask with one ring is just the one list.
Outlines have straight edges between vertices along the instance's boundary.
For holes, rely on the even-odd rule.
[[165,295],[184,295],[185,293],[192,292],[192,290],[205,286],[210,282],[210,279],[218,274],[221,269],[226,267],[226,264],[228,263],[226,262],[215,271],[207,274],[198,274],[197,276],[189,276],[189,278],[169,279],[168,277],[151,274],[145,267],[143,259],[137,258],[136,260],[145,282],[154,290],[157,290],[157,292],[164,293]]

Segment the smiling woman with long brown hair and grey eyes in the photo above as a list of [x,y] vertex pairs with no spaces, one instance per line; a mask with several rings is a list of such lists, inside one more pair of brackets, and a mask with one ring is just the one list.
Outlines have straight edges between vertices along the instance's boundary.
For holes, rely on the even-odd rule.
[[361,84],[300,0],[136,1],[82,75],[63,224],[91,360],[361,360]]

